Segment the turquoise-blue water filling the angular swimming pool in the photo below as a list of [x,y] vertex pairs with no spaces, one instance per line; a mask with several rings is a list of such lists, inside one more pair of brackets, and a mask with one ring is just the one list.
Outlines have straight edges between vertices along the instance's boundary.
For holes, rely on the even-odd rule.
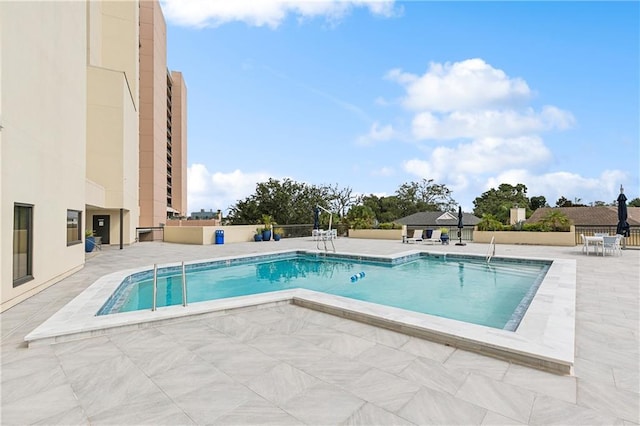
[[[515,330],[550,262],[471,256],[374,259],[316,254],[188,265],[188,303],[305,288],[473,324]],[[99,315],[151,309],[153,274],[126,279]],[[182,304],[181,268],[158,271],[157,306]]]

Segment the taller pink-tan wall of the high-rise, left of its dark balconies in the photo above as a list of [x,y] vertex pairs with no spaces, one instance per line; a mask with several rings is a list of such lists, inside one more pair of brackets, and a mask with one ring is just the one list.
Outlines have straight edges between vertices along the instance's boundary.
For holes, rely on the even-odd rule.
[[167,42],[158,1],[140,2],[141,227],[167,217]]

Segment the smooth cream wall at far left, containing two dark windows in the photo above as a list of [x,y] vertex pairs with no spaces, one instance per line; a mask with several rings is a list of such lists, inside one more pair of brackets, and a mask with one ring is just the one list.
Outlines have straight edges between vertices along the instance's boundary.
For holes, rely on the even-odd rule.
[[[66,212],[85,207],[86,29],[84,2],[0,2],[0,311],[84,263]],[[33,205],[33,280],[14,288],[15,203]]]

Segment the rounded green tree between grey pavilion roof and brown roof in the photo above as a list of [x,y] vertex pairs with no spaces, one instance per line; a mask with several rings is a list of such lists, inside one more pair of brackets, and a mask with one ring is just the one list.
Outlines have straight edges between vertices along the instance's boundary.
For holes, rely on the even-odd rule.
[[500,184],[498,189],[492,188],[482,193],[480,197],[476,197],[473,200],[473,205],[474,215],[483,217],[486,214],[490,214],[504,224],[509,223],[511,208],[513,207],[525,208],[526,216],[531,215],[527,187],[521,183],[516,186],[508,183]]

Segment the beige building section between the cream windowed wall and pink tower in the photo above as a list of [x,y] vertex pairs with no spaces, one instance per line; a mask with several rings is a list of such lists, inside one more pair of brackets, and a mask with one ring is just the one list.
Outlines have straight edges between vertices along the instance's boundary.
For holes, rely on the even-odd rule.
[[[138,207],[139,7],[88,2],[86,228],[93,215],[111,217],[110,244],[135,241]],[[99,189],[100,197],[93,197]],[[114,214],[113,211],[117,212]]]

